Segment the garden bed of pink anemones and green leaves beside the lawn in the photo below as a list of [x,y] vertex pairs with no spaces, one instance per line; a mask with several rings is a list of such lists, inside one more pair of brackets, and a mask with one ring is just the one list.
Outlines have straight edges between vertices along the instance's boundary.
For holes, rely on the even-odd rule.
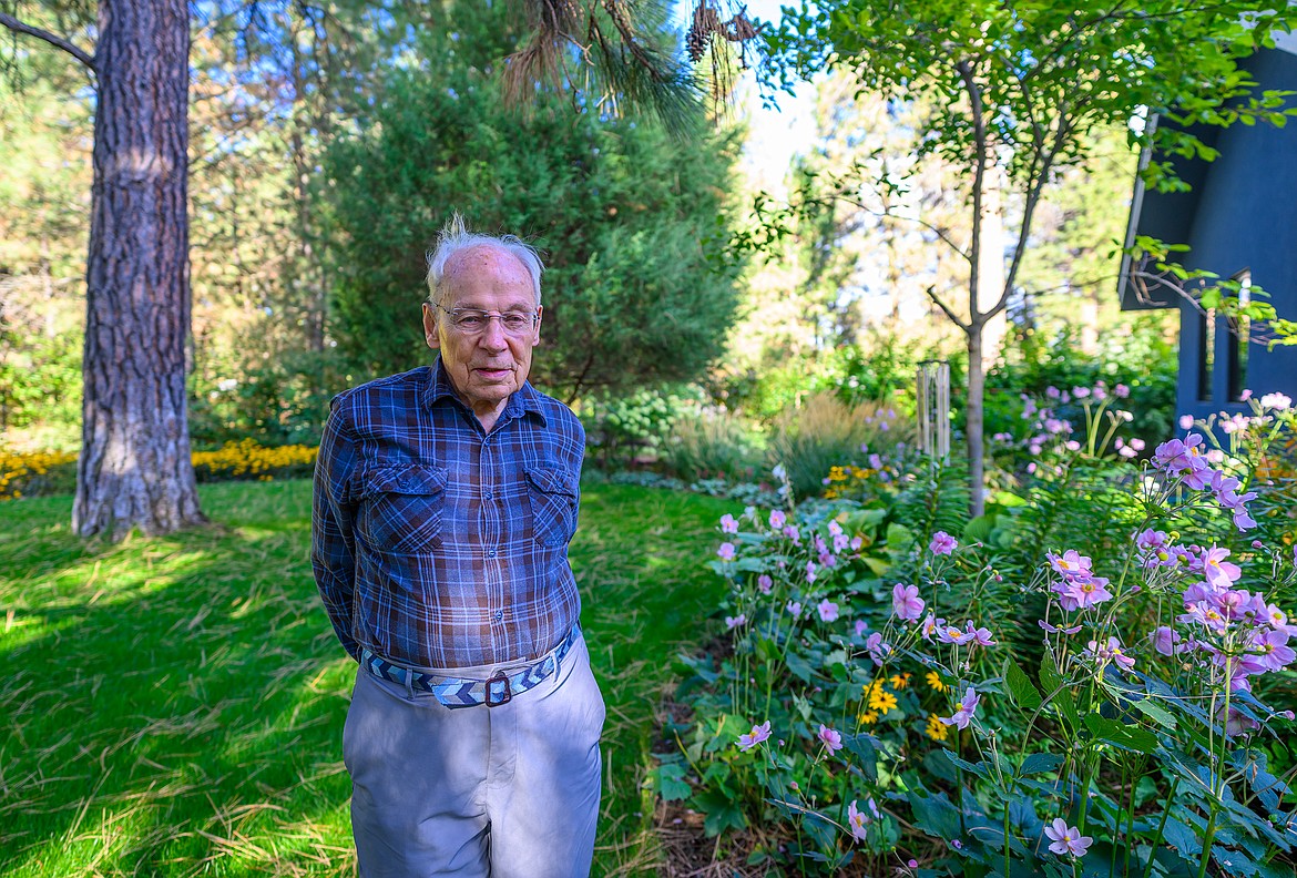
[[930,840],[933,874],[1287,874],[1297,414],[1270,396],[1137,467],[1123,394],[1080,388],[1078,429],[979,520],[943,497],[958,469],[904,457],[724,517],[732,648],[677,693],[689,800],[804,874]]

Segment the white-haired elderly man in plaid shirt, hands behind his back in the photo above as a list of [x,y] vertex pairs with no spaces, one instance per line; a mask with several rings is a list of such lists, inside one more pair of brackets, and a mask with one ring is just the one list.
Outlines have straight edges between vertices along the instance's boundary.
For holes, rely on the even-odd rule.
[[604,708],[568,564],[585,432],[527,381],[541,271],[455,217],[431,367],[333,399],[311,562],[359,663],[342,753],[361,874],[586,875]]

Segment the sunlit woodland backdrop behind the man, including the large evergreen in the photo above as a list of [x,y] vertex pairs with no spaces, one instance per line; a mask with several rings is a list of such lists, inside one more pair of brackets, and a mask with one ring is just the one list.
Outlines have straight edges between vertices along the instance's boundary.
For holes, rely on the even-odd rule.
[[[960,345],[923,291],[966,274],[933,246],[934,230],[966,233],[964,196],[953,169],[916,157],[922,105],[863,92],[850,75],[821,78],[811,141],[772,179],[743,153],[752,88],[738,70],[720,77],[735,97],[668,131],[593,88],[507,104],[501,58],[528,32],[506,4],[217,3],[196,13],[196,450],[313,445],[339,389],[427,362],[423,254],[455,209],[546,254],[533,380],[607,427],[593,431],[604,466],[646,446],[651,457],[682,415],[696,424],[739,412],[726,429],[760,446],[818,390],[908,409],[925,357],[953,358],[960,386]],[[67,25],[86,13],[49,14]],[[71,451],[92,93],[61,53],[13,38],[4,53],[0,425],[10,451]],[[768,126],[770,114],[755,118]],[[1135,156],[1121,130],[1092,136],[1093,160],[1045,195],[1019,294],[988,346],[988,432],[1004,420],[997,401],[1099,377],[1135,385],[1147,396],[1140,418],[1170,425],[1169,327],[1115,313]],[[898,169],[912,182],[878,184]],[[795,219],[751,253],[742,243],[772,209]],[[1016,210],[1003,205],[1010,230]],[[708,467],[681,475],[698,469]]]

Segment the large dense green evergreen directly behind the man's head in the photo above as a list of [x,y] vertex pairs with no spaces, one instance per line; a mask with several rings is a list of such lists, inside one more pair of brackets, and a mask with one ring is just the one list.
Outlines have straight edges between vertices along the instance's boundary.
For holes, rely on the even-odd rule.
[[336,329],[361,374],[428,361],[424,253],[460,210],[471,227],[519,233],[545,257],[540,386],[575,399],[698,377],[738,301],[733,272],[702,245],[728,222],[734,135],[699,114],[672,139],[584,106],[582,92],[507,110],[492,65],[515,48],[515,22],[503,8],[475,8],[453,34],[428,35],[427,65],[394,70],[388,100],[329,150]]

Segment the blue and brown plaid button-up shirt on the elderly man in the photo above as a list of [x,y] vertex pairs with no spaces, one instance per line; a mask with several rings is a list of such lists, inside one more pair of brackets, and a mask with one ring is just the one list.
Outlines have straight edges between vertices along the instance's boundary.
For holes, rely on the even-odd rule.
[[342,646],[414,668],[534,658],[581,612],[567,545],[585,431],[524,384],[490,433],[438,361],[339,394],[311,564]]

